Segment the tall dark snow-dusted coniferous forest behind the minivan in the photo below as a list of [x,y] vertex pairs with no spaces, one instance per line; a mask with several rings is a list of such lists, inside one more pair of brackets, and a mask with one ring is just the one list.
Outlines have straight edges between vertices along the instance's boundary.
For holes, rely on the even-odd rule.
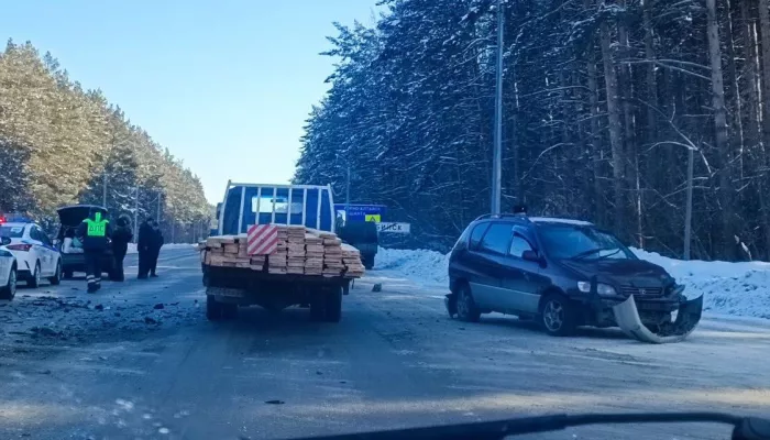
[[[496,1],[381,3],[329,38],[295,180],[340,200],[350,169],[352,202],[446,251],[490,211]],[[693,258],[770,257],[769,3],[504,1],[504,211],[681,257],[690,182]]]

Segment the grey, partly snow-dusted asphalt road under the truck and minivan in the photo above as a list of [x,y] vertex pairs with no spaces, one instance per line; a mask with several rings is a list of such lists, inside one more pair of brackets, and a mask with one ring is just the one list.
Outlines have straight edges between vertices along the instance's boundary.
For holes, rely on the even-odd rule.
[[[135,274],[130,258],[128,274]],[[160,278],[20,289],[0,302],[0,439],[262,439],[559,411],[770,415],[770,324],[705,319],[685,342],[550,338],[450,320],[441,289],[373,271],[339,324],[305,309],[204,317],[198,256]],[[383,290],[372,292],[372,283]],[[600,426],[534,439],[718,439],[718,426]]]

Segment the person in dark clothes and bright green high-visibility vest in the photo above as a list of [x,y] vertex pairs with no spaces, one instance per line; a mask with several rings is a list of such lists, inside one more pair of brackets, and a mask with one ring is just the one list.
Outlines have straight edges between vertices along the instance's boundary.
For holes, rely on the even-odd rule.
[[88,293],[92,294],[101,288],[101,258],[109,245],[112,235],[110,221],[102,218],[101,210],[91,208],[88,218],[80,223],[77,237],[82,242],[82,252],[86,257],[86,280]]

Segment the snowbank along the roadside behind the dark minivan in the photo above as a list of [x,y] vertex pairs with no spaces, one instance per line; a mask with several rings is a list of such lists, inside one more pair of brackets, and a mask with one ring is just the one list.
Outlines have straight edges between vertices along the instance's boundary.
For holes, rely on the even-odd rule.
[[[704,295],[704,308],[708,311],[770,319],[770,263],[688,262],[638,249],[634,253],[686,285],[688,297]],[[449,255],[439,252],[381,248],[375,263],[376,270],[395,273],[418,285],[449,283]]]

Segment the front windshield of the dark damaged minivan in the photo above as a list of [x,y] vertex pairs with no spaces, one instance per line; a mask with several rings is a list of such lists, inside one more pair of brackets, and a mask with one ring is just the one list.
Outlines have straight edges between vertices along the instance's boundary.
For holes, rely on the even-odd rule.
[[538,230],[546,252],[553,258],[636,258],[615,235],[591,226],[541,223]]

